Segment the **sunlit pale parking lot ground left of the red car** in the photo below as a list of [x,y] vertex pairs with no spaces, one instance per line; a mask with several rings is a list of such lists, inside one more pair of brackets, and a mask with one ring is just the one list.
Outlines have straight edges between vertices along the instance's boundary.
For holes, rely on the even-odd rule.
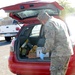
[[8,57],[10,51],[10,42],[6,42],[0,37],[0,75],[15,75],[8,68]]

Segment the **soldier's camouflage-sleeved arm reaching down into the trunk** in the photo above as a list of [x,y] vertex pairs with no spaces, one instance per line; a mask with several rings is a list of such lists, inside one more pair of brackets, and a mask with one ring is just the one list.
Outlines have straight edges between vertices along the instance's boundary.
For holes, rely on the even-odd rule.
[[43,48],[43,53],[50,52],[54,47],[55,41],[55,26],[52,22],[48,22],[45,24],[45,44]]

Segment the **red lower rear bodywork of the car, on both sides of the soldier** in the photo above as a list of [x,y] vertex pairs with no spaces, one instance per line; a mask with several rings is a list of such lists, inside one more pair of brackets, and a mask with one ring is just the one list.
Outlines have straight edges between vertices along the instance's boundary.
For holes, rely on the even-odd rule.
[[[10,52],[9,69],[15,74],[22,75],[50,75],[50,62],[21,62],[18,61],[16,55]],[[66,75],[75,75],[75,46],[74,55],[71,56]]]

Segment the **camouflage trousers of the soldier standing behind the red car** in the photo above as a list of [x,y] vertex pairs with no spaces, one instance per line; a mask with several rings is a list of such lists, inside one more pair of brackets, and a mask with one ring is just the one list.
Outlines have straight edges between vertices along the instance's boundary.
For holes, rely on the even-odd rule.
[[65,75],[70,56],[51,57],[50,75]]

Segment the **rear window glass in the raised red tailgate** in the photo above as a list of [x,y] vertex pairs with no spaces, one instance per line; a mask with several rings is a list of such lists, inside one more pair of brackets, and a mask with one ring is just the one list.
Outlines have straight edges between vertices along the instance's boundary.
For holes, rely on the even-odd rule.
[[38,13],[44,10],[46,11],[48,14],[52,14],[52,15],[58,15],[58,12],[53,10],[53,9],[33,9],[33,10],[25,10],[25,11],[20,11],[17,12],[16,14],[18,14],[18,16],[23,19],[23,18],[29,18],[29,17],[35,17],[38,15]]

